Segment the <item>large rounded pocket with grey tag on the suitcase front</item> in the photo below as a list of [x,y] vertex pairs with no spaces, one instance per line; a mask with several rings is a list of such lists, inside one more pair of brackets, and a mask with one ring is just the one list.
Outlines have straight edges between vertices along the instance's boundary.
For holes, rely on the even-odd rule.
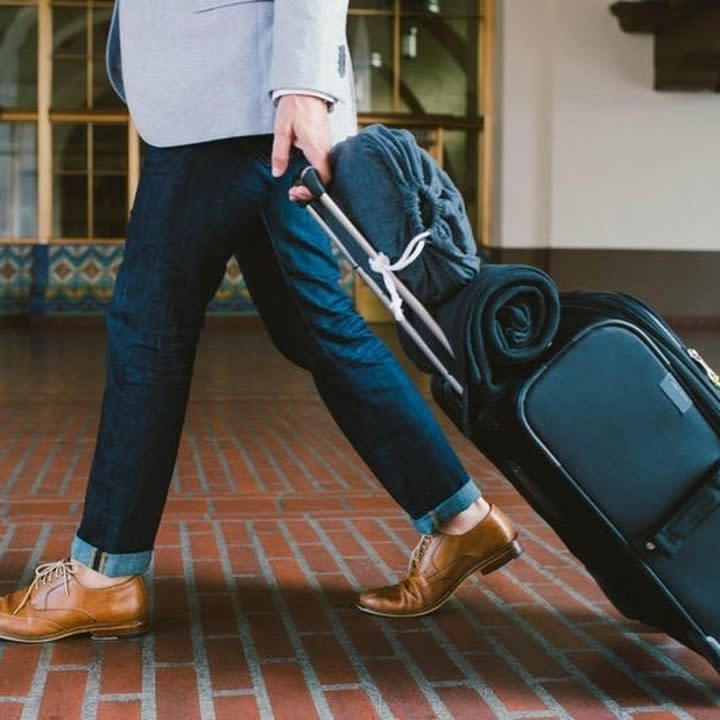
[[520,424],[579,493],[640,547],[720,459],[720,436],[642,330],[589,326],[523,385]]

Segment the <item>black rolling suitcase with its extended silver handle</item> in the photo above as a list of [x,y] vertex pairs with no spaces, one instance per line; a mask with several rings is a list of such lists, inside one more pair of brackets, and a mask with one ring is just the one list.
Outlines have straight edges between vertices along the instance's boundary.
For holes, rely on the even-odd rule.
[[623,614],[720,672],[717,375],[640,301],[575,292],[559,298],[552,342],[487,391],[448,340],[453,301],[428,312],[394,272],[376,282],[357,260],[358,248],[375,257],[373,245],[312,169],[299,182],[313,195],[309,212],[381,301],[393,309],[382,287],[392,282],[407,302],[409,318],[396,320],[421,351],[418,364],[432,374],[433,397],[448,417]]

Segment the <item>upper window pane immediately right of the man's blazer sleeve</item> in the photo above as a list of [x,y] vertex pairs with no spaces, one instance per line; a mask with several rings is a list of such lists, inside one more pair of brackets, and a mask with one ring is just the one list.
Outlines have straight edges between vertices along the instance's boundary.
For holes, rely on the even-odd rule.
[[392,112],[392,19],[348,18],[348,42],[353,58],[359,112]]

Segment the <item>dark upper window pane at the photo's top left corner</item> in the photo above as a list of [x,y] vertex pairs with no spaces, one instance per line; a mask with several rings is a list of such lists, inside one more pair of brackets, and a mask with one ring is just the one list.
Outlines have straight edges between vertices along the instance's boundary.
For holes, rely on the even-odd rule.
[[37,10],[0,7],[0,106],[37,107]]

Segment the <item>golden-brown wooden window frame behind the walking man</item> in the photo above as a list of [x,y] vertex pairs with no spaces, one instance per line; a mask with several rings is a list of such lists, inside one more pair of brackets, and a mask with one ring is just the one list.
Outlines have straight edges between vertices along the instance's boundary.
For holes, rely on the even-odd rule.
[[[472,161],[471,171],[476,173],[476,197],[472,198],[475,211],[470,217],[475,228],[478,243],[482,246],[492,244],[493,232],[493,205],[494,205],[494,146],[495,146],[495,6],[496,0],[476,0],[477,12],[443,13],[448,18],[476,18],[478,22],[478,53],[477,67],[474,77],[477,79],[480,91],[477,94],[477,108],[469,112],[467,117],[449,117],[431,114],[413,114],[400,112],[401,110],[401,31],[403,22],[418,14],[417,10],[404,11],[403,0],[388,0],[386,9],[363,9],[357,4],[350,3],[351,16],[365,15],[367,17],[387,17],[392,22],[393,35],[393,75],[392,95],[393,112],[390,113],[360,113],[360,125],[372,122],[382,122],[395,127],[417,128],[435,132],[440,143],[436,157],[442,159],[442,142],[446,131],[464,131],[468,137],[474,136],[477,156]],[[0,122],[32,122],[37,126],[37,236],[36,237],[0,237],[0,245],[17,244],[117,244],[124,242],[123,237],[98,238],[82,237],[68,238],[53,234],[53,125],[56,123],[85,123],[101,124],[114,123],[127,126],[127,207],[131,207],[140,175],[140,138],[133,127],[128,113],[123,108],[117,110],[97,109],[88,107],[82,110],[60,110],[52,107],[52,72],[53,72],[53,28],[52,14],[54,6],[85,7],[112,7],[111,0],[0,0],[0,7],[37,8],[37,65],[38,65],[38,98],[36,108],[1,108]],[[426,11],[420,13],[427,15]],[[92,33],[92,28],[89,30]],[[88,86],[92,88],[92,73],[94,72],[93,45],[87,48]],[[97,46],[96,46],[97,47]],[[437,149],[437,148],[436,148]],[[92,185],[92,179],[88,178]],[[88,202],[91,202],[88,196]],[[90,210],[90,207],[89,207]]]

